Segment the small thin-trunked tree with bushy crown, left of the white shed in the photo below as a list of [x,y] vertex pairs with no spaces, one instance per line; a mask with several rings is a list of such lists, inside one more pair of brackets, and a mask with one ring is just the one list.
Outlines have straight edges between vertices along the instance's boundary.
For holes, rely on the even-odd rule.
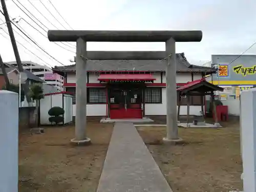
[[32,84],[30,86],[30,96],[35,100],[35,122],[38,125],[38,109],[39,109],[39,100],[45,97],[44,89],[42,89],[40,84]]

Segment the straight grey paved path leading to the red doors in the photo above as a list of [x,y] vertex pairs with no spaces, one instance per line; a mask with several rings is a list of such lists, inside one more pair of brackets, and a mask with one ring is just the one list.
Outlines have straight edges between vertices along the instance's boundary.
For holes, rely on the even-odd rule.
[[133,123],[114,126],[97,192],[172,192]]

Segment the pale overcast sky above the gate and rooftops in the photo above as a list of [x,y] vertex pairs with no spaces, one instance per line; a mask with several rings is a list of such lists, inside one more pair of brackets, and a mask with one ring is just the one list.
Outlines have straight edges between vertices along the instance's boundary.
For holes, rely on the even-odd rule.
[[[45,36],[47,32],[33,16],[36,25],[13,1],[29,16],[30,11],[49,29],[77,30],[202,30],[201,42],[179,42],[176,52],[184,52],[193,64],[201,64],[210,60],[211,54],[241,54],[256,41],[256,1],[255,0],[50,0],[66,22],[58,15],[49,0],[6,0],[11,18],[20,18],[18,25],[32,37],[37,44],[64,65],[72,64],[69,60],[75,56],[74,43],[50,42]],[[34,7],[32,5],[34,5]],[[46,8],[44,7],[44,5]],[[37,8],[42,16],[35,8]],[[48,12],[54,15],[54,17]],[[46,17],[46,18],[45,18]],[[0,14],[0,54],[4,61],[15,60],[4,16]],[[16,19],[18,20],[18,19]],[[32,28],[39,30],[42,34]],[[51,24],[51,23],[52,24]],[[65,28],[63,28],[63,26]],[[1,29],[2,28],[2,29]],[[17,28],[20,35],[27,39]],[[50,66],[60,65],[56,60],[36,47],[33,42],[23,39],[16,32],[16,40],[28,50],[36,54]],[[6,38],[4,38],[2,35]],[[45,35],[45,36],[43,36]],[[18,44],[22,60],[31,60],[45,64],[38,57]],[[164,51],[163,42],[127,43],[127,42],[89,42],[89,51]],[[73,51],[73,52],[72,52]],[[256,46],[247,54],[255,54]]]

